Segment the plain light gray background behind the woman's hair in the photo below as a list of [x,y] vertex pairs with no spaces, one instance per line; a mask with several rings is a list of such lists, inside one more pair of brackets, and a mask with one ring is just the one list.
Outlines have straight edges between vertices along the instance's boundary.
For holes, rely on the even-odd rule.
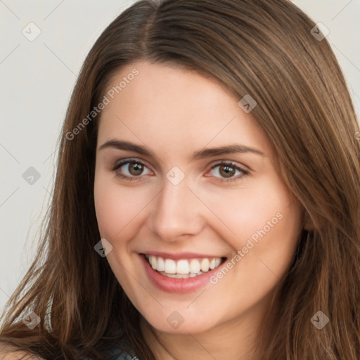
[[[216,1],[216,0],[214,0]],[[360,113],[360,1],[293,0],[315,21],[340,61]],[[36,252],[48,207],[56,141],[79,69],[125,0],[0,0],[0,311]],[[34,41],[34,23],[41,34]],[[309,29],[310,31],[311,29]],[[23,173],[34,167],[34,184]],[[64,239],[66,241],[66,239]]]

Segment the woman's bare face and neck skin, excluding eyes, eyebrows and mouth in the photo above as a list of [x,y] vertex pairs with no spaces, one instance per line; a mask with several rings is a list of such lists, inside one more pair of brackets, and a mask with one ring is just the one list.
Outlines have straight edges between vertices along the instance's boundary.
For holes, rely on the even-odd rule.
[[[257,331],[269,311],[274,289],[288,270],[304,214],[274,164],[274,148],[252,113],[214,79],[169,65],[131,63],[108,89],[137,68],[139,75],[101,113],[94,195],[101,237],[113,250],[108,262],[125,293],[146,321],[143,334],[157,359],[255,359]],[[258,106],[261,104],[258,104]],[[146,146],[155,156],[100,147],[118,139]],[[192,160],[203,148],[238,143],[262,151]],[[141,180],[122,159],[143,162]],[[221,161],[249,171],[226,180]],[[131,165],[131,164],[130,164]],[[166,174],[177,166],[178,184]],[[222,170],[221,170],[222,169]],[[138,175],[139,176],[139,175]],[[216,285],[175,294],[155,288],[139,253],[199,252],[236,255],[250,236],[277,213],[283,215]],[[167,317],[184,323],[172,328]],[[155,337],[158,340],[155,340]]]

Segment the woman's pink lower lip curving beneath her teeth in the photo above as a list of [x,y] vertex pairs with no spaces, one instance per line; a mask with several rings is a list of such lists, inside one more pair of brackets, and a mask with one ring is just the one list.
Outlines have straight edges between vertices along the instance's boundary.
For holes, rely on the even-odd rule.
[[154,270],[145,255],[140,255],[141,262],[145,268],[146,274],[150,281],[160,290],[167,291],[167,293],[193,293],[200,288],[203,288],[207,283],[210,283],[210,277],[219,271],[219,266],[215,269],[207,271],[205,274],[194,276],[193,278],[169,278],[168,276],[161,275],[158,271]]

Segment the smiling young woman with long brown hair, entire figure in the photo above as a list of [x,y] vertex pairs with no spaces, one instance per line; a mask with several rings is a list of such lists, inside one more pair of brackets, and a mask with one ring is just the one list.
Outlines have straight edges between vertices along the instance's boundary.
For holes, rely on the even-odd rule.
[[134,4],[72,94],[8,356],[359,359],[359,138],[290,1]]

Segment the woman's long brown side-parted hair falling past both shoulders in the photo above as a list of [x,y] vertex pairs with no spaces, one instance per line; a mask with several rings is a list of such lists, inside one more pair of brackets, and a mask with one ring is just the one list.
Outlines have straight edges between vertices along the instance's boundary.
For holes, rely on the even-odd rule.
[[[4,309],[0,340],[44,358],[105,359],[124,337],[139,359],[155,360],[141,314],[94,251],[98,118],[88,117],[115,72],[148,60],[211,76],[239,100],[250,94],[281,176],[314,224],[302,230],[264,319],[259,359],[360,359],[359,125],[338,62],[328,41],[313,36],[315,26],[287,0],[143,0],[117,17],[73,91],[39,252]],[[41,319],[34,330],[21,321],[30,310]],[[311,323],[317,311],[330,320],[321,330]]]

